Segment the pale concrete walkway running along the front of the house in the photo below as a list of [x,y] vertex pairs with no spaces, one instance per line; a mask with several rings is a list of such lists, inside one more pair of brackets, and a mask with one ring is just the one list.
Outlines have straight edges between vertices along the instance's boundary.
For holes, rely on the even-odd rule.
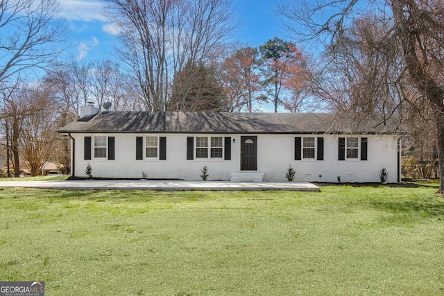
[[0,187],[46,188],[65,190],[160,190],[160,191],[320,191],[319,187],[308,182],[230,182],[230,181],[122,181],[122,180],[85,180],[85,181],[7,181]]

